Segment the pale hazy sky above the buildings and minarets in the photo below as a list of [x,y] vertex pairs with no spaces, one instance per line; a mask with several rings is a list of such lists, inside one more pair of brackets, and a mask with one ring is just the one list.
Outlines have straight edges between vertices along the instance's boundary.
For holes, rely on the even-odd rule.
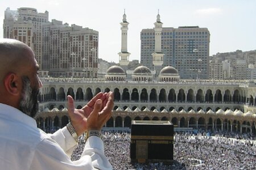
[[[256,49],[256,1],[254,0],[1,0],[0,25],[7,7],[33,7],[49,12],[49,20],[77,24],[100,32],[99,57],[118,62],[121,50],[123,10],[126,9],[130,60],[140,60],[140,32],[153,28],[156,15],[163,27],[206,27],[210,31],[210,56],[217,52]],[[0,37],[3,36],[2,27]]]

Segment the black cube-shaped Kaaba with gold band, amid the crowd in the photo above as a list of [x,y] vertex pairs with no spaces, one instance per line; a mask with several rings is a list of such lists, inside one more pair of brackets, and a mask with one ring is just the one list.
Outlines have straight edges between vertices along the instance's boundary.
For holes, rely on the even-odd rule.
[[130,157],[131,162],[172,164],[174,125],[170,121],[132,121]]

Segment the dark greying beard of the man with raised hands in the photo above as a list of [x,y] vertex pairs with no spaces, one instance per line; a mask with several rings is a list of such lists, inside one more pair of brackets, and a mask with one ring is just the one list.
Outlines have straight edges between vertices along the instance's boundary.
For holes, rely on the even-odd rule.
[[30,117],[35,117],[38,113],[38,94],[39,88],[30,87],[30,79],[27,76],[22,77],[23,87],[22,87],[22,98],[19,102],[19,110],[27,114]]

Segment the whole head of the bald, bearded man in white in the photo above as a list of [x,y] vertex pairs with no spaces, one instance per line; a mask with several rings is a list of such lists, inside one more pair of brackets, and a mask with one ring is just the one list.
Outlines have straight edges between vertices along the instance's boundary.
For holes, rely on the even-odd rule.
[[18,40],[0,39],[0,103],[30,116],[38,111],[42,82],[39,66],[29,46]]

